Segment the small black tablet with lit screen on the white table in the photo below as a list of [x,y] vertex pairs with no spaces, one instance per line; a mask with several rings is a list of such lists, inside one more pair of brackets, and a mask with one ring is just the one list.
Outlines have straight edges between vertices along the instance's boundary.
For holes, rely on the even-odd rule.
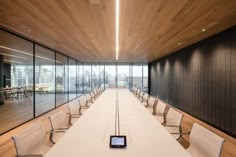
[[111,148],[125,148],[126,136],[110,136],[110,147]]

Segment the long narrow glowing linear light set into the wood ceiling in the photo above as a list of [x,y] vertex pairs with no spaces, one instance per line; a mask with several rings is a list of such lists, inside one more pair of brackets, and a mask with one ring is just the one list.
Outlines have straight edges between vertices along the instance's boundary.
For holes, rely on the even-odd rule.
[[116,0],[116,60],[119,59],[119,16],[120,0]]

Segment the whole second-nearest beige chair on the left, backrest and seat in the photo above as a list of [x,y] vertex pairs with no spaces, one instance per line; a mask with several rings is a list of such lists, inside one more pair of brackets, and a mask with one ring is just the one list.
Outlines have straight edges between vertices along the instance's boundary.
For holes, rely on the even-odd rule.
[[52,130],[50,132],[50,141],[56,143],[69,129],[66,114],[64,111],[58,111],[57,113],[49,117]]

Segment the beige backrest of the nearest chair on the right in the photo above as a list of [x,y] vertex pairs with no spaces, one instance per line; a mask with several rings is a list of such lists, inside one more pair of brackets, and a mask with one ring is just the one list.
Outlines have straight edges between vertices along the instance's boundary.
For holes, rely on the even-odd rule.
[[224,139],[194,123],[190,133],[190,146],[187,150],[194,152],[192,155],[202,157],[219,157]]

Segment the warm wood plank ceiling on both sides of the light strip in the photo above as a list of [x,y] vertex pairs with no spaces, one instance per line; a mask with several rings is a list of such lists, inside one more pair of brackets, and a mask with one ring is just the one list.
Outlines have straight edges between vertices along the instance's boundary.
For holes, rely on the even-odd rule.
[[[83,62],[115,61],[115,0],[0,3],[2,27]],[[119,61],[158,59],[235,19],[235,0],[120,0]]]

